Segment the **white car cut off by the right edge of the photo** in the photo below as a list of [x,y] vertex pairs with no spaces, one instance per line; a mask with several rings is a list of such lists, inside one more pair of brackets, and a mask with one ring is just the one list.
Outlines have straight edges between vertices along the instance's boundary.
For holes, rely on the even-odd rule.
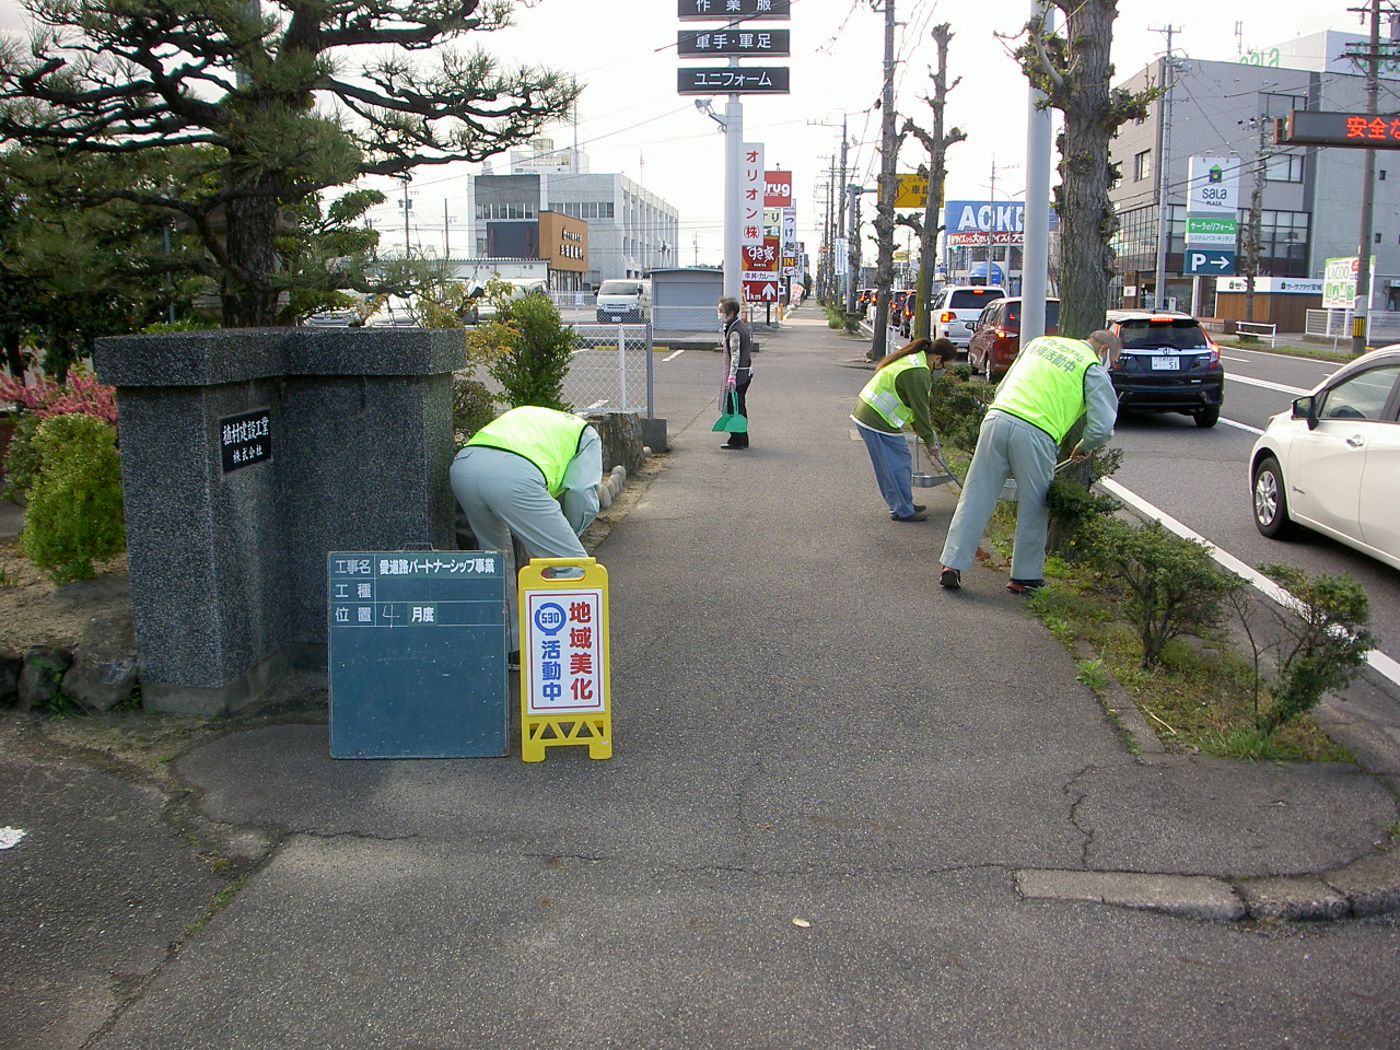
[[1400,568],[1400,344],[1362,354],[1294,402],[1249,456],[1254,525],[1301,525]]

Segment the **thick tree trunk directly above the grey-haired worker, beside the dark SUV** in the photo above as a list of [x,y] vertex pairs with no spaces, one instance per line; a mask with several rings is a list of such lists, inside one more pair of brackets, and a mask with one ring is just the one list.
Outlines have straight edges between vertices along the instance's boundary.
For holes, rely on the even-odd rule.
[[1103,328],[1113,273],[1109,239],[1117,223],[1109,202],[1109,136],[1117,125],[1109,46],[1119,11],[1114,0],[1057,6],[1065,14],[1075,83],[1064,99],[1060,137],[1060,333],[1084,339]]

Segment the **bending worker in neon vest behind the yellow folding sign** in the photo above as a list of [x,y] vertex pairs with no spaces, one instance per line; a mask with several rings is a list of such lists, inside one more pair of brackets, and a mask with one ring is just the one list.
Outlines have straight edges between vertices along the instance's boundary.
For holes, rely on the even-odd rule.
[[587,557],[578,533],[598,517],[602,473],[598,431],[581,416],[536,406],[497,416],[452,461],[452,494],[472,535],[482,549],[505,553],[512,654],[519,651],[519,599],[511,533],[531,557]]

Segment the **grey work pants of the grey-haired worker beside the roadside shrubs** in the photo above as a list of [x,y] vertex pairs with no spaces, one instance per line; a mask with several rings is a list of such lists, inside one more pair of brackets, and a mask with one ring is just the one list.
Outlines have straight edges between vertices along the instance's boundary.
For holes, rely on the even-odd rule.
[[1054,438],[1040,427],[1005,412],[988,412],[948,526],[942,564],[958,571],[972,567],[1001,489],[1008,477],[1015,477],[1016,540],[1011,552],[1011,578],[1040,580],[1046,567],[1046,491],[1054,479],[1057,452]]

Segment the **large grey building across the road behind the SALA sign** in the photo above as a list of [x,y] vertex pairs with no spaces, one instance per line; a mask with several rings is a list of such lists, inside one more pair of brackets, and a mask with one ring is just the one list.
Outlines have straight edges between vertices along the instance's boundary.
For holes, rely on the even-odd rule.
[[[1240,56],[1235,62],[1163,59],[1123,87],[1170,84],[1147,119],[1126,125],[1112,143],[1119,178],[1110,190],[1119,216],[1113,238],[1112,305],[1172,304],[1214,312],[1214,281],[1184,270],[1186,190],[1191,157],[1238,157],[1238,225],[1247,228],[1259,202],[1261,277],[1320,279],[1330,258],[1355,256],[1361,234],[1364,150],[1274,144],[1274,119],[1291,109],[1345,111],[1365,105],[1365,77],[1345,53],[1357,34],[1323,32]],[[1267,64],[1260,64],[1267,63]],[[1394,71],[1382,74],[1393,92]],[[1382,102],[1382,108],[1386,105]],[[1158,297],[1162,158],[1166,158],[1165,290]],[[1400,308],[1400,153],[1378,151],[1372,232],[1372,307]],[[1245,245],[1236,244],[1236,273]]]

